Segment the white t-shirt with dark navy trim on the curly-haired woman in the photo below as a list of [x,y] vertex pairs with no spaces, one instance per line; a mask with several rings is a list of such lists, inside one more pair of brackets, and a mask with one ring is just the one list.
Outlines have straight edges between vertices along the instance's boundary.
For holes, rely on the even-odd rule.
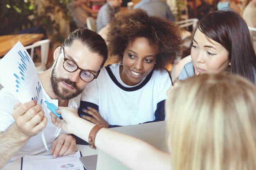
[[110,125],[118,126],[164,120],[166,91],[172,86],[168,71],[151,71],[139,84],[128,86],[121,81],[120,65],[102,68],[99,77],[88,84],[81,96],[79,114],[85,114],[82,108],[91,106]]

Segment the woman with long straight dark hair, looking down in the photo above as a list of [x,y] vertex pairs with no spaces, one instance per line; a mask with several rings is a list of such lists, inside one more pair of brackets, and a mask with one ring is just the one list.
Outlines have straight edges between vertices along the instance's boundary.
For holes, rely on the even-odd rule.
[[243,18],[232,11],[214,11],[204,16],[195,31],[192,61],[179,75],[183,80],[200,73],[228,71],[256,83],[256,56]]

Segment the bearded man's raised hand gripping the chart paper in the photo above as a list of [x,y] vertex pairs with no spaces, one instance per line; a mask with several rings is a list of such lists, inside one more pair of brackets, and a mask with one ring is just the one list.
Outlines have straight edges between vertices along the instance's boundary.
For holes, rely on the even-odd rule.
[[39,104],[35,100],[21,104],[17,103],[13,107],[13,118],[18,130],[28,137],[35,136],[47,124],[47,117]]

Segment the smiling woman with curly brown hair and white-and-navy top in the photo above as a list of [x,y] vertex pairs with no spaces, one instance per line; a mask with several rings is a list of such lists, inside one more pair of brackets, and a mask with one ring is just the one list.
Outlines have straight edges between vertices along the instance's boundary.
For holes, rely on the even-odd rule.
[[165,67],[181,51],[180,29],[136,9],[117,13],[108,30],[109,53],[120,63],[104,67],[83,91],[79,115],[105,127],[164,120]]

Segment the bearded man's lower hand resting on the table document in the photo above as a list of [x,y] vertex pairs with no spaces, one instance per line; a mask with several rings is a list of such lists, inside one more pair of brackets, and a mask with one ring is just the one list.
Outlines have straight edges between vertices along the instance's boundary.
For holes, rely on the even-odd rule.
[[57,156],[72,155],[76,152],[76,140],[72,135],[61,134],[52,142],[51,154]]

